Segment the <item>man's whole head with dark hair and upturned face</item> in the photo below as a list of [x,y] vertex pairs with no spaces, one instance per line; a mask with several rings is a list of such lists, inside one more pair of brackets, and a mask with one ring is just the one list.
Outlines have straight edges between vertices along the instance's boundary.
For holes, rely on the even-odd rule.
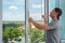
[[60,16],[62,15],[62,10],[61,9],[58,9],[58,8],[55,8],[54,10],[52,10],[51,11],[51,13],[50,13],[50,16],[52,17],[52,18],[57,18],[57,19],[60,19]]

